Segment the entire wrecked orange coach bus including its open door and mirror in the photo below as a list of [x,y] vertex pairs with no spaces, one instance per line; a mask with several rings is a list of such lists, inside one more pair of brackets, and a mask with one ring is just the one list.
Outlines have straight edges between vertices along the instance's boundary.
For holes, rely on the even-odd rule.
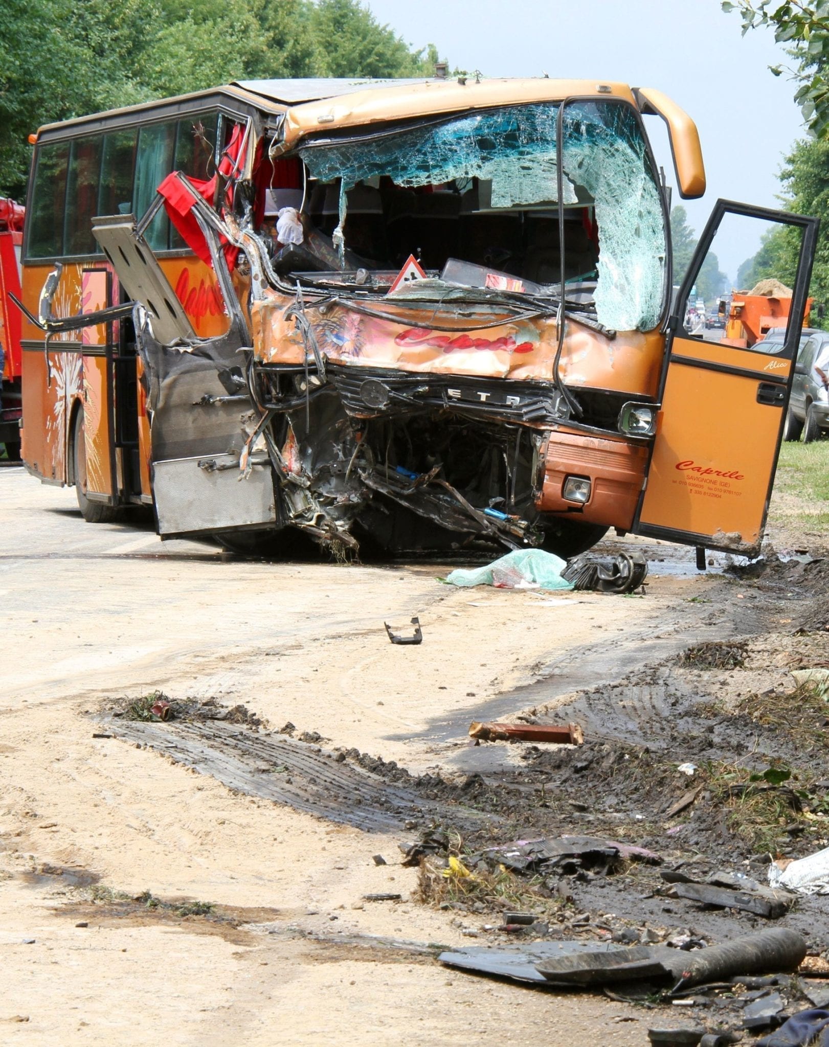
[[[608,528],[753,555],[817,223],[719,201],[672,302],[696,128],[587,81],[248,81],[42,128],[23,458],[88,520],[335,549]],[[800,240],[784,346],[682,327],[708,252]]]

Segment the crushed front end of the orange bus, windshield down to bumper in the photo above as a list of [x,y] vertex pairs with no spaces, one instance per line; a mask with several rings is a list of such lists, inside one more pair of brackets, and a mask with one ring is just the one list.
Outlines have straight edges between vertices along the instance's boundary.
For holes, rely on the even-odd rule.
[[248,384],[286,521],[346,544],[563,555],[628,530],[670,286],[633,106],[358,131],[291,151],[310,179],[300,242],[260,241],[283,286],[251,294]]

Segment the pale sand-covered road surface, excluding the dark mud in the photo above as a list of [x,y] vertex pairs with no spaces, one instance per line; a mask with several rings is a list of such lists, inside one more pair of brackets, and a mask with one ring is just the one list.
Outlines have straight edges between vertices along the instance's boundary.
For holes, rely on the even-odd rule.
[[[412,773],[492,767],[512,749],[470,749],[471,718],[519,710],[510,690],[539,677],[555,700],[580,666],[596,682],[637,645],[727,630],[716,601],[689,602],[716,579],[680,571],[652,577],[644,600],[545,602],[442,586],[438,566],[245,562],[87,525],[73,492],[19,468],[0,469],[0,1043],[647,1042],[643,1010],[352,944],[468,939],[451,913],[407,900],[416,872],[391,864],[399,833],[233,795],[93,738],[84,713],[161,688],[244,703]],[[422,646],[393,647],[383,620],[414,614]],[[92,879],[232,907],[246,926],[107,915],[77,889]],[[404,900],[354,908],[376,891]]]

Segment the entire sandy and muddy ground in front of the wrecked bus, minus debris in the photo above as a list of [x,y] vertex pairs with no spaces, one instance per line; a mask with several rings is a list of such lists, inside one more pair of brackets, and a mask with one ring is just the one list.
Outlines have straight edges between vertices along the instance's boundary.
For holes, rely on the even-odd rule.
[[[446,563],[245,561],[92,527],[72,492],[0,470],[2,1041],[624,1045],[735,1026],[733,993],[562,995],[435,955],[768,926],[674,897],[662,872],[764,883],[769,854],[829,843],[824,704],[790,675],[829,659],[829,560],[784,522],[759,572],[713,557],[699,575],[692,551],[641,542],[645,596],[464,591],[439,583]],[[383,621],[416,614],[423,644],[390,645]],[[132,718],[155,691],[173,718]],[[475,745],[484,719],[576,721],[585,742]],[[789,775],[750,781],[769,767]],[[562,833],[662,864],[513,875],[483,857]],[[450,856],[472,876],[444,876]],[[814,962],[826,908],[776,921]],[[538,922],[503,932],[510,909]]]

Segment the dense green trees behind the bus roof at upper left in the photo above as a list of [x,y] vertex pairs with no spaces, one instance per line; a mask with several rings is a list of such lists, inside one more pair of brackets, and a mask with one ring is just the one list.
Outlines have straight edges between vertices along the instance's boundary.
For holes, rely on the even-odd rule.
[[44,124],[233,80],[432,75],[360,0],[4,0],[0,196],[22,199]]

